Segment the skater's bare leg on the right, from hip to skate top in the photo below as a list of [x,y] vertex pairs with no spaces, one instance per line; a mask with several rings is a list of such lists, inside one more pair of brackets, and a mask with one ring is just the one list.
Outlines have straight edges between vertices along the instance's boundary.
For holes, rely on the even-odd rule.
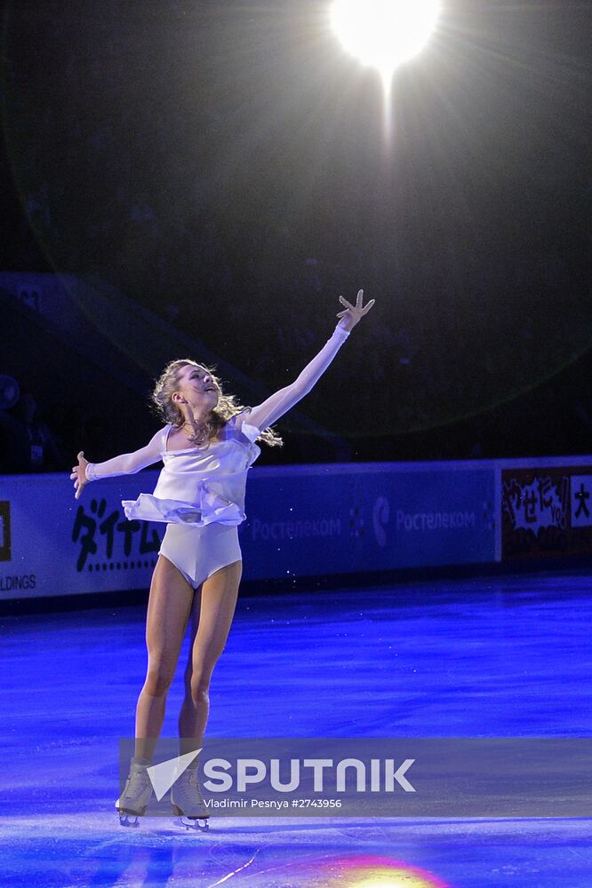
[[192,610],[192,645],[185,670],[185,699],[180,710],[180,754],[198,749],[210,711],[210,680],[224,650],[235,614],[243,571],[236,561],[205,580]]

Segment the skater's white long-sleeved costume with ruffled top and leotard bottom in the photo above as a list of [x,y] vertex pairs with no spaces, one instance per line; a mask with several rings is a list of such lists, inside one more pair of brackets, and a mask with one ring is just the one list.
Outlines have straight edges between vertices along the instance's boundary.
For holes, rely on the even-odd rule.
[[145,448],[86,466],[88,480],[139,472],[161,460],[164,467],[152,494],[124,500],[128,519],[166,523],[159,554],[172,561],[194,588],[241,560],[237,527],[245,519],[247,472],[260,455],[255,441],[316,384],[349,333],[338,326],[298,379],[257,407],[233,416],[220,440],[202,447],[167,450],[172,425],[156,432]]

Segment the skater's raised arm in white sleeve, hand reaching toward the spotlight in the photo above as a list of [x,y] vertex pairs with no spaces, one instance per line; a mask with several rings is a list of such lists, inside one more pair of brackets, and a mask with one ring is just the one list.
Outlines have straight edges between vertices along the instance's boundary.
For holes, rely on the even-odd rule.
[[356,305],[351,305],[346,299],[340,296],[340,303],[345,308],[337,317],[340,322],[333,331],[332,337],[325,343],[321,351],[315,355],[307,366],[302,370],[300,376],[292,383],[286,385],[275,394],[272,394],[267,400],[264,400],[257,407],[253,407],[249,413],[244,414],[244,421],[250,425],[254,425],[258,429],[266,429],[269,425],[275,423],[280,416],[284,416],[295,404],[299,402],[314,387],[318,379],[323,376],[324,371],[329,367],[335,355],[339,352],[341,345],[349,336],[349,331],[356,326],[364,314],[367,314],[374,299],[371,299],[367,305],[363,305],[364,291],[359,290],[356,297]]

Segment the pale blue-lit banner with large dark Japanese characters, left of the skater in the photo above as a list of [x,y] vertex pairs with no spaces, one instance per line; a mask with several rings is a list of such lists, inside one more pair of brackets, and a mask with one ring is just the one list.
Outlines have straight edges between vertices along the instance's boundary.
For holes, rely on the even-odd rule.
[[148,588],[164,525],[126,520],[121,499],[156,474],[89,485],[80,500],[65,474],[0,477],[0,598]]

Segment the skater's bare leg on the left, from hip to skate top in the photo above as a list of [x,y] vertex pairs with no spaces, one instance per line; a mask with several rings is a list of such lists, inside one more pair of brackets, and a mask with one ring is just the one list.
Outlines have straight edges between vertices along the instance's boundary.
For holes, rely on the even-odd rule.
[[171,561],[159,555],[148,600],[148,670],[136,707],[136,758],[152,759],[154,755],[193,598],[190,583]]

